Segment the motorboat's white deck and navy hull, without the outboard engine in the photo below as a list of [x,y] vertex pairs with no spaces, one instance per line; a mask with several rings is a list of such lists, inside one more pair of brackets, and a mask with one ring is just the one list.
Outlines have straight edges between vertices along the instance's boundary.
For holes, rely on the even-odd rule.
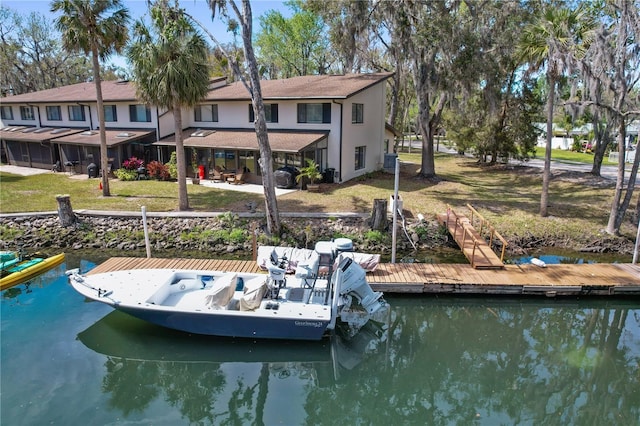
[[[68,273],[69,274],[69,273]],[[320,340],[331,324],[332,308],[323,295],[298,287],[301,297],[289,300],[282,289],[276,299],[263,297],[258,306],[242,308],[224,302],[212,306],[210,297],[230,273],[194,270],[128,270],[70,275],[71,286],[83,296],[162,327],[187,333],[257,339]],[[236,273],[231,273],[236,275]],[[265,274],[237,274],[243,286],[265,281]],[[202,280],[202,278],[210,278]],[[206,284],[205,284],[206,283]],[[292,278],[290,284],[294,284]],[[206,288],[203,288],[202,285]],[[231,302],[241,304],[245,288],[231,286]],[[317,289],[320,291],[320,289]],[[314,291],[315,293],[315,291]],[[302,294],[306,295],[303,297]],[[324,293],[322,293],[324,294]],[[304,299],[304,300],[303,300]],[[209,302],[207,302],[209,300]]]

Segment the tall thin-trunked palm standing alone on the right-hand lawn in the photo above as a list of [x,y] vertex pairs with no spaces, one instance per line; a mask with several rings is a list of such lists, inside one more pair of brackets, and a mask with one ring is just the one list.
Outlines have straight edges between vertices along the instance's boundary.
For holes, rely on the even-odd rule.
[[542,174],[540,216],[548,216],[549,181],[551,180],[551,139],[553,137],[553,106],[556,86],[562,74],[572,67],[574,58],[584,53],[584,42],[592,30],[583,9],[576,10],[547,4],[540,18],[527,26],[519,44],[520,59],[532,70],[546,66],[547,80],[547,143]]

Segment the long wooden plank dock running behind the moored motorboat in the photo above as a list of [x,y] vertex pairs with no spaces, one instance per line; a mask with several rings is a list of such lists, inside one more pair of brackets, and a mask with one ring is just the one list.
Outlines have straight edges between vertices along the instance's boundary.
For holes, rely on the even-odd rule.
[[[121,269],[208,269],[263,272],[255,261],[114,257],[90,274]],[[381,263],[367,273],[376,291],[419,294],[640,296],[640,265],[503,265],[476,269],[466,264]]]

